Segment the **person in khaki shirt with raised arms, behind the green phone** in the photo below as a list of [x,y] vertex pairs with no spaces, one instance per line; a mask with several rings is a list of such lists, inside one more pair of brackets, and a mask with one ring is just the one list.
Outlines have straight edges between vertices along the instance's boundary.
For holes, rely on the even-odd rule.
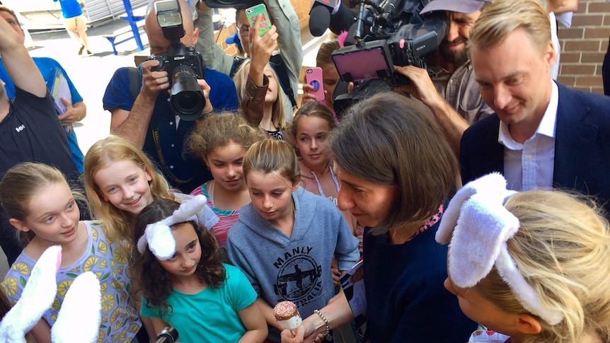
[[[251,2],[254,5],[260,1]],[[280,77],[285,120],[289,122],[292,118],[292,108],[294,105],[297,105],[299,76],[301,74],[301,65],[303,64],[299,18],[297,18],[297,13],[292,8],[289,0],[266,0],[265,6],[267,6],[267,12],[271,17],[272,23],[277,27],[277,45],[280,48],[280,53],[272,54],[270,66]],[[251,40],[249,37],[251,28],[245,8],[237,8],[235,16],[239,40],[241,40],[243,50],[246,51],[248,56],[251,56]],[[201,0],[197,1],[195,27],[200,30],[199,38],[197,39],[197,51],[201,52],[204,61],[208,62],[212,68],[217,69],[221,73],[233,77],[243,60],[226,54],[214,42],[212,9]]]

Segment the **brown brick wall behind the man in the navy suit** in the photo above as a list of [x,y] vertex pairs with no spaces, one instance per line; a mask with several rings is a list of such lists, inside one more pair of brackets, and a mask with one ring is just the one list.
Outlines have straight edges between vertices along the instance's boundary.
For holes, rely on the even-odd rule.
[[602,62],[610,37],[610,2],[580,0],[572,27],[559,26],[558,81],[565,86],[603,94]]

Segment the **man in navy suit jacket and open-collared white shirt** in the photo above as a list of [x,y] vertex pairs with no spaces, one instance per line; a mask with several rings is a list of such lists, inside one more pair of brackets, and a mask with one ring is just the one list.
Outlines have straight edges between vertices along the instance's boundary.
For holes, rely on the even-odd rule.
[[499,171],[512,190],[578,190],[609,211],[610,98],[553,82],[544,8],[536,0],[496,0],[470,43],[481,96],[495,114],[462,136],[463,182]]

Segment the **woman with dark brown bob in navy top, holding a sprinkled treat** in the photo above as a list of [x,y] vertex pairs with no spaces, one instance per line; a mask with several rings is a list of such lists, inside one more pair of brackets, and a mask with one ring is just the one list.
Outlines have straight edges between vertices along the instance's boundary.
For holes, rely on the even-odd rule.
[[[338,206],[364,229],[364,342],[467,342],[476,329],[444,289],[447,246],[435,242],[459,187],[456,157],[432,114],[398,93],[347,110],[330,136]],[[353,320],[345,294],[306,318],[282,342],[311,342]]]

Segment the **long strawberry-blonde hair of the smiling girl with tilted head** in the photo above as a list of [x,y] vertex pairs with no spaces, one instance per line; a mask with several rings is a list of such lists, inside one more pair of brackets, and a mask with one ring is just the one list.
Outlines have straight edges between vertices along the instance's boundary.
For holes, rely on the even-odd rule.
[[163,175],[154,167],[146,154],[142,152],[142,149],[139,149],[131,141],[113,134],[96,141],[87,151],[83,173],[89,211],[91,211],[93,218],[103,221],[110,236],[130,240],[135,223],[134,217],[127,211],[117,209],[110,202],[105,202],[102,191],[95,180],[95,176],[100,169],[106,168],[110,163],[116,161],[133,161],[139,168],[151,175],[152,180],[149,185],[154,200],[161,198],[175,200],[175,196]]

